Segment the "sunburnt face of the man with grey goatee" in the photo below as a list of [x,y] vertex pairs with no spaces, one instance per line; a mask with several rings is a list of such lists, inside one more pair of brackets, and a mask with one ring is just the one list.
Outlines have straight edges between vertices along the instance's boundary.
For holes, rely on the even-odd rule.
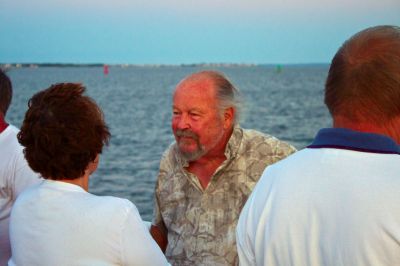
[[196,161],[224,149],[223,124],[212,82],[183,81],[178,85],[173,97],[172,130],[186,160]]

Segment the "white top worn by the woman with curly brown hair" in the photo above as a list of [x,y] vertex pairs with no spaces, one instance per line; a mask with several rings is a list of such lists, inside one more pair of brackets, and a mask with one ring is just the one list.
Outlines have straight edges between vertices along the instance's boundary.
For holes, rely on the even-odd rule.
[[60,181],[18,197],[10,239],[11,266],[168,265],[130,201]]

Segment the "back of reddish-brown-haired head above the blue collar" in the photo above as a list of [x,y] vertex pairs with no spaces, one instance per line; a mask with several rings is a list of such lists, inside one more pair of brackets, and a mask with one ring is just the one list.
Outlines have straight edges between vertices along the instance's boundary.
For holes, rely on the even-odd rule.
[[338,50],[325,87],[333,118],[384,125],[400,115],[400,28],[365,29]]

